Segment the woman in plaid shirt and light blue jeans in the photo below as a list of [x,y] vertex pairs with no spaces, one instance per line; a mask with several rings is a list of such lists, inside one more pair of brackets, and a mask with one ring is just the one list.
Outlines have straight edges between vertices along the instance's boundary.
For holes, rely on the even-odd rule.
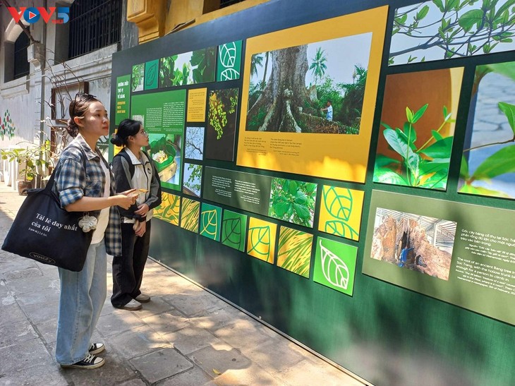
[[68,212],[95,217],[96,229],[83,270],[59,268],[61,295],[57,320],[56,360],[64,368],[99,368],[104,344],[91,335],[107,293],[107,256],[121,251],[119,207],[135,202],[135,191],[115,194],[114,181],[97,141],[109,134],[107,111],[93,95],[79,93],[70,104],[68,133],[75,139],[56,164],[54,193]]

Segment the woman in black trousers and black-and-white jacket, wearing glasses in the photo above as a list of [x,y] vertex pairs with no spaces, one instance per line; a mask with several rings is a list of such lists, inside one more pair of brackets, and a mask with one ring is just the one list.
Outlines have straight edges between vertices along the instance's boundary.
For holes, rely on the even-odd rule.
[[135,205],[121,208],[122,253],[113,257],[111,304],[124,310],[139,310],[150,296],[140,291],[150,243],[152,208],[161,203],[161,182],[152,158],[141,148],[148,146],[148,134],[139,121],[124,119],[111,143],[123,146],[113,158],[113,172],[119,191],[138,189]]

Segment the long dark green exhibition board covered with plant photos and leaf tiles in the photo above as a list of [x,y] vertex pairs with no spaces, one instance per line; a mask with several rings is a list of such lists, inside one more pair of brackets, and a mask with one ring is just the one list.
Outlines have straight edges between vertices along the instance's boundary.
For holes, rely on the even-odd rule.
[[114,54],[150,255],[368,382],[515,384],[514,7],[277,0]]

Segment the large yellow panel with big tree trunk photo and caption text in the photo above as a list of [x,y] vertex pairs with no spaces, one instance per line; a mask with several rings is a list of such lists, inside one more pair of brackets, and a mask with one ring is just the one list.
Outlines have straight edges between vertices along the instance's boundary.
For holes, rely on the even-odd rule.
[[238,166],[365,181],[387,11],[246,40]]

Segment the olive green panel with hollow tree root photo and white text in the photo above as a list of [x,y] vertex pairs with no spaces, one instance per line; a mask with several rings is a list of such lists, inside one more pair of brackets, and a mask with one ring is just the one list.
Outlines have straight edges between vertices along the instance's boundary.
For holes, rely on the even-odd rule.
[[363,273],[515,325],[515,212],[372,192]]

